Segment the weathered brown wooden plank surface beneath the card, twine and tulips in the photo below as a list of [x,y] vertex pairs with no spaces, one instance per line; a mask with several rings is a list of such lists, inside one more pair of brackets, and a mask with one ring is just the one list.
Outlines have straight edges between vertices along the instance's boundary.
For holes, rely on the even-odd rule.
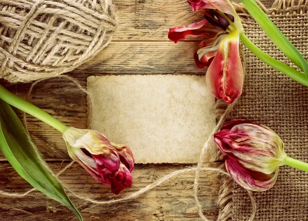
[[[193,54],[198,39],[177,44],[167,39],[168,28],[199,21],[202,15],[192,12],[186,1],[116,0],[119,9],[119,28],[110,45],[92,61],[68,73],[86,86],[91,75],[186,74],[204,75],[195,66]],[[267,7],[271,1],[267,1]],[[1,24],[0,24],[1,26]],[[1,81],[10,91],[25,98],[31,84],[11,85]],[[86,96],[74,83],[65,78],[37,83],[29,99],[68,126],[86,128]],[[16,110],[18,116],[22,113]],[[54,171],[70,160],[61,133],[45,123],[27,116],[29,132],[38,149]],[[200,147],[201,148],[201,147]],[[149,153],[150,154],[150,153]],[[0,153],[1,190],[23,193],[31,188],[9,165]],[[206,163],[218,167],[221,163]],[[121,195],[137,191],[158,178],[183,169],[185,164],[137,164],[133,171],[133,186]],[[190,165],[191,166],[191,165]],[[204,214],[216,219],[219,175],[202,172],[200,199]],[[61,175],[74,191],[98,199],[110,199],[109,187],[93,180],[77,164]],[[199,220],[192,197],[194,173],[176,176],[139,198],[111,205],[95,205],[72,197],[85,220]],[[65,206],[33,192],[23,198],[1,196],[0,220],[76,220]]]

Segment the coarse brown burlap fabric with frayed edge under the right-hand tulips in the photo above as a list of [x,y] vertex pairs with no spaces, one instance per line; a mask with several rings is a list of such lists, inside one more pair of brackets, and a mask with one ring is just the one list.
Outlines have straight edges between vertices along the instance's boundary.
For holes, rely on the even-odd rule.
[[[275,2],[266,11],[288,39],[308,58],[308,2]],[[245,33],[263,51],[293,66],[249,16]],[[243,94],[231,115],[271,127],[284,141],[288,156],[308,162],[308,88],[262,63],[247,48]],[[255,192],[255,220],[308,220],[308,173],[281,167],[276,185]],[[222,179],[219,220],[247,220],[251,202],[247,191],[228,178]]]

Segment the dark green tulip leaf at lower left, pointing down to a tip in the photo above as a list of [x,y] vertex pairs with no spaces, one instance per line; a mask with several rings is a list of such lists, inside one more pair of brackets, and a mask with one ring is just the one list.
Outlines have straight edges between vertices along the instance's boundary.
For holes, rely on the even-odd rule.
[[30,136],[11,106],[0,99],[0,148],[4,156],[30,185],[66,205],[78,216],[79,220],[83,220],[78,209],[66,195],[61,183],[46,169],[49,165],[43,156],[41,154],[37,156],[33,145]]

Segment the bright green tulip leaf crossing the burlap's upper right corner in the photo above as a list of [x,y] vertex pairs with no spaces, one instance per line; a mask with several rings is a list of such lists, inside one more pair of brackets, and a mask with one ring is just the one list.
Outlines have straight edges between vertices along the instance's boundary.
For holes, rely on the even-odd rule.
[[241,2],[259,23],[268,38],[305,73],[308,81],[308,63],[297,48],[281,33],[254,0],[241,0]]

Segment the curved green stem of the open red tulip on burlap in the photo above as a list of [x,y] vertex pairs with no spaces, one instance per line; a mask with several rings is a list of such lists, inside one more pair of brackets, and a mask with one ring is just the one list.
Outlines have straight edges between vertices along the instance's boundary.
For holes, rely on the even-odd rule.
[[246,45],[246,47],[251,50],[261,61],[266,63],[267,65],[275,68],[276,70],[284,73],[286,76],[294,79],[295,81],[305,85],[308,87],[308,81],[304,75],[304,73],[295,70],[294,68],[283,64],[276,59],[273,59],[268,54],[264,53],[260,48],[258,48],[251,40],[247,38],[244,32],[240,33],[240,40]]

